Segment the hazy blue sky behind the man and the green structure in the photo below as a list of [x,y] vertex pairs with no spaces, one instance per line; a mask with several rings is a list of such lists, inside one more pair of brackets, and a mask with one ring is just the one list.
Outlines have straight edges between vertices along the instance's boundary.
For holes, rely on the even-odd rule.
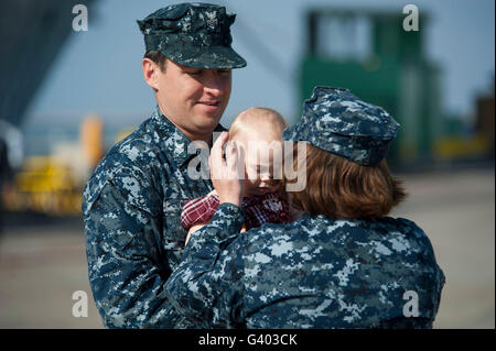
[[[89,112],[121,125],[133,125],[148,118],[154,97],[142,78],[140,63],[144,44],[136,20],[175,2],[100,0],[89,8],[89,30],[74,33],[64,46],[29,108],[28,123],[78,123]],[[442,67],[442,107],[449,112],[470,116],[476,94],[487,91],[493,84],[493,0],[211,2],[225,4],[229,12],[237,13],[231,28],[233,46],[248,62],[246,68],[234,72],[233,94],[223,119],[225,125],[252,106],[274,108],[290,120],[298,117],[295,76],[305,44],[303,15],[313,6],[400,12],[407,3],[414,3],[420,11],[428,11],[431,21],[422,26],[420,18],[420,30],[428,31],[428,57]],[[252,50],[247,35],[262,41],[266,50]],[[268,64],[263,59],[267,55],[276,64]]]

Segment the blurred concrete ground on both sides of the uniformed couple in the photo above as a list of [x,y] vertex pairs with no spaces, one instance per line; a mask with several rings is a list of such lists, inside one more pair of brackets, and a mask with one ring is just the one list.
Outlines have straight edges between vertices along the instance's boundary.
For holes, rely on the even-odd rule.
[[[446,275],[435,328],[495,328],[494,169],[403,176],[392,213],[431,238]],[[103,328],[91,298],[80,218],[10,213],[0,234],[0,328]],[[73,316],[73,293],[88,317]]]

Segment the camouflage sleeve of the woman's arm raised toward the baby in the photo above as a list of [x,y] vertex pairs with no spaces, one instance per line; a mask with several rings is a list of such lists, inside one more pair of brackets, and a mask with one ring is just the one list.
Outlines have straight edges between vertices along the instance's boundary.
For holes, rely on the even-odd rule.
[[230,328],[242,322],[238,317],[244,245],[242,240],[233,243],[241,226],[241,209],[220,204],[212,222],[193,233],[181,264],[165,285],[174,307],[203,328]]

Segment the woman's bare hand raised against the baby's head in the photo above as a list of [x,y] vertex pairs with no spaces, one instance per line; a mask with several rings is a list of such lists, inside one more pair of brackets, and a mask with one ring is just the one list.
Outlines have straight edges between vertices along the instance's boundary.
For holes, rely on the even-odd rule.
[[211,179],[218,194],[219,202],[230,202],[240,206],[242,198],[242,174],[240,167],[242,150],[235,143],[228,143],[226,160],[223,157],[223,146],[229,139],[229,133],[223,132],[212,146],[208,165]]

